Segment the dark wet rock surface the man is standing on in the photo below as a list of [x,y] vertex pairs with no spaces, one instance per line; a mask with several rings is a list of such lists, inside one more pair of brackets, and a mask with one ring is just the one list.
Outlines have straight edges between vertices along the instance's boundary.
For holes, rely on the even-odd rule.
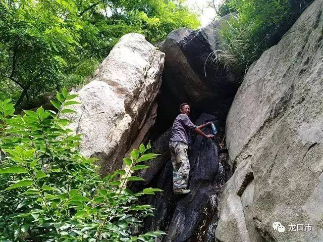
[[[219,121],[209,114],[202,114],[196,124],[208,121],[216,124]],[[204,129],[211,133],[210,127]],[[146,201],[155,206],[155,217],[145,221],[146,230],[164,230],[168,235],[160,241],[213,241],[217,223],[216,201],[220,188],[228,179],[227,154],[219,158],[219,147],[214,140],[202,136],[193,136],[189,150],[190,179],[189,195],[174,195],[173,193],[173,166],[170,160],[168,142],[170,130],[161,135],[153,143],[152,152],[162,154],[154,161],[147,162],[152,169],[140,172],[147,187],[163,189],[155,196],[148,197]],[[142,188],[142,183],[134,184],[134,190]]]

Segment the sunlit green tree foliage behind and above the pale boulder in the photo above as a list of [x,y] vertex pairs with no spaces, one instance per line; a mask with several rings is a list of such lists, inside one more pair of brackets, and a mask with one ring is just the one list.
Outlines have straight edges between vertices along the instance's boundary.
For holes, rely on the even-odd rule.
[[126,33],[155,42],[198,25],[183,1],[1,1],[0,100],[30,108],[46,91],[82,83]]

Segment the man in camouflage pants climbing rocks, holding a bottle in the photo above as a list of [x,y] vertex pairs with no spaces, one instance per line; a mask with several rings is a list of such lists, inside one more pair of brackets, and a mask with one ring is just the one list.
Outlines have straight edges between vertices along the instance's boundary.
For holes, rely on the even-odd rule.
[[196,126],[192,123],[188,117],[191,110],[187,103],[180,105],[180,111],[181,114],[177,116],[173,124],[170,150],[173,164],[174,193],[187,194],[191,192],[191,190],[187,188],[188,174],[190,172],[190,163],[187,155],[190,131],[194,130],[205,138],[213,138],[214,135],[206,135],[201,130],[207,125],[211,125],[212,122],[200,126]]

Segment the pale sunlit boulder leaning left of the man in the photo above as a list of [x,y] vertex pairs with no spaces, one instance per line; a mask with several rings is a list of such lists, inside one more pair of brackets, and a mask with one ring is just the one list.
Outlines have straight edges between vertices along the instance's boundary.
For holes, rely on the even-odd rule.
[[81,105],[70,118],[83,134],[80,151],[99,158],[103,173],[118,169],[153,125],[164,58],[143,35],[124,35],[77,92]]

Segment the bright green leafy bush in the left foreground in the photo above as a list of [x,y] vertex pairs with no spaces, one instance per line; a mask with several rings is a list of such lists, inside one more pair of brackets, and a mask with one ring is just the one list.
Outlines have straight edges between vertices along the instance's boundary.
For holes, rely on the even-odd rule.
[[64,88],[52,101],[57,112],[40,107],[24,115],[0,101],[0,240],[153,241],[163,232],[136,234],[153,208],[135,202],[160,189],[133,193],[125,184],[143,180],[131,171],[156,155],[141,144],[124,159],[126,169],[100,177],[94,160],[79,154],[81,135],[61,117],[74,112],[75,97]]

